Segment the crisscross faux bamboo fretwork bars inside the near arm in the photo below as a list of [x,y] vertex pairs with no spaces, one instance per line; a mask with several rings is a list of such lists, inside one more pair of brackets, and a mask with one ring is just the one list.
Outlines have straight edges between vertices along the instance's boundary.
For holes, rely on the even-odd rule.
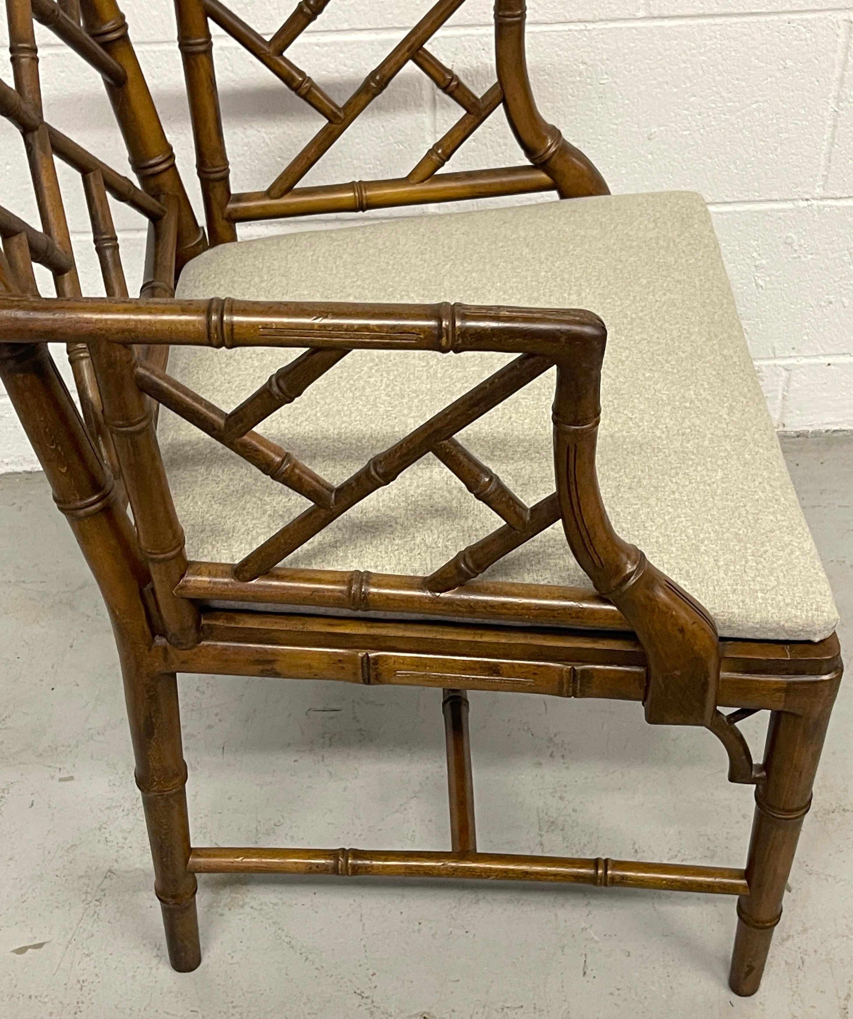
[[528,507],[494,471],[454,438],[457,432],[547,371],[552,364],[548,358],[533,355],[517,358],[373,457],[337,487],[288,450],[252,431],[271,414],[300,396],[311,382],[349,353],[322,347],[307,351],[272,375],[229,414],[151,364],[144,362],[136,368],[136,383],[144,392],[314,503],[237,564],[234,574],[239,580],[255,580],[267,573],[428,452],[436,455],[475,498],[506,522],[504,527],[463,549],[426,578],[430,590],[458,587],[559,519],[556,494]]

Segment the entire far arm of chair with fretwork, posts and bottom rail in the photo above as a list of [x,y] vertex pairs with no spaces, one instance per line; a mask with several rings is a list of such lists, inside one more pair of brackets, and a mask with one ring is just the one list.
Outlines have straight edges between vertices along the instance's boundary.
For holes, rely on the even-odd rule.
[[[211,244],[235,240],[235,224],[247,220],[365,212],[392,206],[542,191],[557,191],[561,198],[608,194],[607,184],[592,163],[536,109],[525,61],[524,0],[497,0],[495,4],[498,79],[481,96],[428,48],[432,37],[465,2],[439,0],[340,106],[287,55],[291,44],[320,18],[329,2],[302,0],[267,40],[220,0],[175,0],[196,169]],[[326,121],[265,191],[232,194],[230,190],[210,21],[227,33]],[[431,146],[405,177],[300,186],[308,171],[409,64],[421,70],[457,104],[459,119]],[[509,125],[531,165],[439,173],[499,106],[503,106]]]

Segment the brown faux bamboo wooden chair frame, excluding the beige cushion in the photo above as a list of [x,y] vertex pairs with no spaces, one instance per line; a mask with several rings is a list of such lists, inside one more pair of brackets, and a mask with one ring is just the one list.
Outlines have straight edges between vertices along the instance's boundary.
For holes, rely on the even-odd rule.
[[[562,198],[607,193],[589,160],[536,110],[524,63],[522,0],[496,4],[498,83],[482,97],[424,48],[463,2],[439,0],[343,106],[284,55],[328,2],[302,0],[267,41],[219,0],[176,0],[211,243],[235,239],[235,224],[252,218],[546,189]],[[781,915],[841,679],[838,640],[720,640],[702,606],[614,532],[595,478],[604,323],[578,310],[175,301],[176,273],[204,250],[206,238],[115,0],[7,0],[7,11],[14,88],[0,83],[0,112],[23,137],[42,229],[0,210],[0,377],[112,620],[174,968],[191,970],[201,961],[197,873],[492,877],[737,896],[730,982],[739,995],[753,994]],[[34,17],[102,74],[140,186],[44,120]],[[327,121],[264,193],[229,190],[209,18]],[[409,62],[463,108],[454,127],[405,179],[297,186]],[[532,165],[437,173],[501,104]],[[55,156],[82,177],[106,299],[81,297]],[[127,296],[109,196],[151,224],[138,299]],[[53,274],[55,298],[39,294],[33,262]],[[50,357],[51,341],[68,344],[82,417]],[[226,413],[167,374],[171,344],[305,353]],[[362,348],[495,351],[516,359],[335,487],[254,428],[349,352]],[[555,365],[556,491],[527,506],[454,436]],[[311,506],[236,565],[187,562],[157,443],[159,405],[243,457],[271,482],[300,492]],[[278,567],[429,453],[502,518],[497,531],[425,578]],[[598,594],[475,579],[558,519]],[[268,610],[239,607],[246,603]],[[316,614],[306,613],[311,608]],[[329,609],[342,614],[330,615]],[[362,614],[376,611],[386,618]],[[443,688],[451,851],[192,846],[178,672]],[[709,729],[728,754],[730,781],[755,786],[745,869],[477,852],[469,689],[631,700],[643,703],[649,722]],[[721,707],[734,710],[726,714]],[[771,716],[763,761],[754,763],[737,722],[759,710]]]

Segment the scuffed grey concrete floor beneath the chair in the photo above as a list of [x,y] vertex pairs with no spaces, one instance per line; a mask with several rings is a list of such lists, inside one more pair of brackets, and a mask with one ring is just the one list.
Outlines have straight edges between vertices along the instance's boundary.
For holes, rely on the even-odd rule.
[[[853,638],[853,436],[785,452]],[[851,1015],[853,687],[764,983],[726,984],[729,898],[374,879],[200,880],[166,961],[99,595],[40,475],[0,478],[0,1001],[9,1019]],[[440,692],[186,677],[194,841],[449,845]],[[762,715],[744,730],[760,745]],[[471,695],[480,848],[742,865],[752,790],[638,705]]]

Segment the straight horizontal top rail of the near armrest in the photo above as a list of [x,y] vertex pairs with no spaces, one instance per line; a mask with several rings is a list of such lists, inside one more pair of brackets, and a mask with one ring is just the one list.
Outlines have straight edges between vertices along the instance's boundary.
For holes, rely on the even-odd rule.
[[0,341],[493,351],[557,360],[601,345],[591,312],[471,305],[30,299],[0,300]]

